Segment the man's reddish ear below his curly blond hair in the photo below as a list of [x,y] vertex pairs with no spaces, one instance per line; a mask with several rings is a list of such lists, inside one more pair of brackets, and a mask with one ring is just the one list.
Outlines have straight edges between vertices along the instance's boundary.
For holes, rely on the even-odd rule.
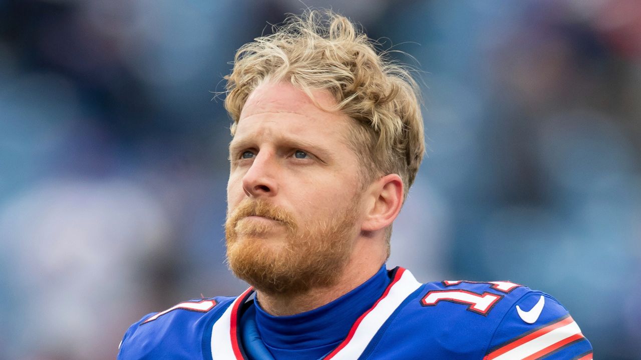
[[365,209],[362,231],[378,231],[394,222],[403,206],[403,179],[388,174],[370,185],[370,201]]

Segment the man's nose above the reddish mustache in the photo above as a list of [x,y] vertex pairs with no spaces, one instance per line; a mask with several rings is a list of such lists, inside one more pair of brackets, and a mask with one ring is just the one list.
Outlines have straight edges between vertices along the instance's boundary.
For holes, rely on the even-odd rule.
[[260,151],[242,178],[242,187],[248,197],[272,197],[278,192],[278,169],[274,154]]

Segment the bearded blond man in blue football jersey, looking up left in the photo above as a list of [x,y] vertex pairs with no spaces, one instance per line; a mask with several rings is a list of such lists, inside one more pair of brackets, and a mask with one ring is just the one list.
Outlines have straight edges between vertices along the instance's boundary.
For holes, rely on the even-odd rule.
[[252,288],[144,316],[118,358],[592,359],[549,295],[385,268],[424,153],[417,86],[327,15],[245,45],[226,78],[227,255]]

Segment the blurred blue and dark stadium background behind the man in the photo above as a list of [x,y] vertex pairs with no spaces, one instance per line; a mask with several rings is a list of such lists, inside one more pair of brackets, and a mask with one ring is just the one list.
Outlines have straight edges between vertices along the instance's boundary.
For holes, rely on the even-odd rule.
[[[418,69],[428,158],[389,267],[551,293],[641,359],[641,2],[306,1]],[[113,359],[129,324],[235,295],[235,50],[297,0],[0,0],[0,360]]]

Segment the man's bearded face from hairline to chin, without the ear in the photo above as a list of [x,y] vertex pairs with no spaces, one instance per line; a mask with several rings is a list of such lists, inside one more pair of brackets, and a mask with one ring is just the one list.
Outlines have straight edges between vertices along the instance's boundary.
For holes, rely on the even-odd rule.
[[264,83],[247,99],[229,145],[226,236],[231,270],[258,290],[329,286],[349,261],[362,188],[351,121],[288,83]]

